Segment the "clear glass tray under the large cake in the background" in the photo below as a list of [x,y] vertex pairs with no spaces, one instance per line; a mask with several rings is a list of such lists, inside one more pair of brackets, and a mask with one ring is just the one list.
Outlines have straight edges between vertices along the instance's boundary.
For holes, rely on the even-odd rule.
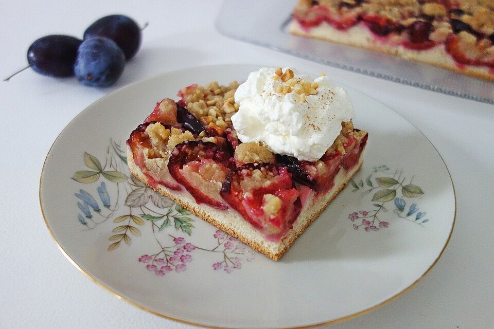
[[228,37],[379,79],[494,104],[494,82],[379,52],[291,35],[295,1],[225,1],[216,21]]

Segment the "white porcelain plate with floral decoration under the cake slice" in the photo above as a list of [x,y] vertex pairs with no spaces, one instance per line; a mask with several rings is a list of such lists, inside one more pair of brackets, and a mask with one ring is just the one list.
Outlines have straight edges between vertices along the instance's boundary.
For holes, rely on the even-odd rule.
[[448,169],[411,123],[350,87],[355,126],[369,132],[364,165],[278,262],[132,179],[125,141],[156,101],[192,83],[242,81],[259,67],[195,67],[137,82],[62,131],[41,174],[41,207],[87,277],[173,320],[298,327],[365,314],[437,262],[455,216]]

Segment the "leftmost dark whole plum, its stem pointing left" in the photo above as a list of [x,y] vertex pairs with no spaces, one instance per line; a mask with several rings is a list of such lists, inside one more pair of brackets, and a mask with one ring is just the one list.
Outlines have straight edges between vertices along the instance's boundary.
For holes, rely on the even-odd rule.
[[46,35],[34,41],[27,50],[27,62],[39,74],[71,77],[77,48],[82,40],[69,35]]

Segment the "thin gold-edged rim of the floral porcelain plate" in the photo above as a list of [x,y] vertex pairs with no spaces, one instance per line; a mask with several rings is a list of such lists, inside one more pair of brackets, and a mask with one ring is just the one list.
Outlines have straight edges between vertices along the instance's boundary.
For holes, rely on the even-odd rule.
[[[126,89],[126,88],[130,88],[132,87],[133,85],[135,84],[139,84],[139,83],[143,83],[144,81],[146,80],[151,80],[151,79],[156,79],[160,76],[164,76],[164,75],[167,75],[167,74],[172,74],[172,73],[178,73],[178,72],[181,72],[181,71],[188,71],[188,70],[191,70],[191,69],[200,69],[200,68],[211,68],[211,67],[221,67],[221,66],[232,66],[232,67],[235,67],[235,66],[259,66],[258,64],[251,64],[251,63],[239,63],[239,64],[216,64],[216,65],[200,65],[200,66],[191,66],[191,67],[186,67],[186,68],[181,68],[181,69],[177,69],[177,70],[171,70],[171,71],[164,71],[164,72],[161,72],[160,74],[157,74],[155,76],[152,76],[152,77],[148,77],[148,78],[144,78],[144,79],[141,79],[141,80],[138,80],[138,81],[135,81],[135,82],[132,82],[130,84],[127,84],[125,86],[122,86],[121,88],[118,88],[116,90],[113,90],[113,92],[107,94],[107,95],[104,95],[103,97],[100,97],[98,98],[97,100],[95,100],[93,103],[87,105],[81,112],[79,112],[72,120],[70,120],[62,129],[62,131],[57,135],[57,138],[55,138],[54,142],[51,144],[47,154],[46,154],[46,157],[45,157],[45,160],[43,161],[43,167],[41,169],[41,174],[40,174],[40,183],[39,183],[39,202],[40,202],[40,208],[41,208],[41,214],[43,216],[43,220],[44,220],[44,223],[46,225],[46,228],[48,229],[48,232],[50,233],[50,236],[51,238],[53,239],[53,241],[55,242],[55,244],[57,245],[57,247],[60,249],[60,251],[62,252],[62,254],[65,256],[65,258],[67,258],[67,260],[72,264],[74,265],[80,272],[83,273],[83,275],[87,278],[89,278],[91,281],[93,281],[94,283],[96,283],[98,286],[100,286],[101,288],[103,288],[104,290],[108,291],[108,293],[110,293],[111,295],[113,295],[114,297],[116,297],[117,299],[119,300],[122,300],[122,301],[125,301],[135,307],[138,307],[140,309],[143,309],[145,310],[146,312],[149,312],[151,314],[154,314],[156,316],[159,316],[159,317],[162,317],[162,318],[165,318],[165,319],[168,319],[168,320],[172,320],[172,321],[176,321],[176,322],[180,322],[180,323],[185,323],[185,324],[189,324],[189,325],[193,325],[193,326],[198,326],[198,327],[206,327],[206,328],[215,328],[215,329],[228,329],[230,327],[224,327],[224,326],[217,326],[217,325],[208,325],[208,324],[204,324],[204,323],[199,323],[199,322],[194,322],[194,321],[189,321],[189,320],[186,320],[186,319],[182,319],[182,318],[177,318],[177,317],[173,317],[173,316],[170,316],[170,315],[166,315],[166,314],[163,314],[163,313],[160,313],[160,312],[157,312],[151,308],[148,308],[144,305],[141,305],[135,301],[132,301],[131,299],[129,298],[126,298],[124,296],[121,296],[119,295],[116,291],[114,291],[112,288],[110,287],[107,287],[105,286],[104,284],[102,284],[101,282],[99,282],[97,279],[93,278],[89,273],[87,273],[79,264],[77,264],[71,257],[70,255],[63,249],[63,247],[60,245],[60,243],[58,242],[58,240],[56,239],[55,237],[55,234],[54,232],[51,230],[51,227],[49,226],[48,224],[48,221],[46,219],[46,215],[45,215],[45,212],[44,212],[44,209],[43,209],[43,202],[42,202],[42,193],[41,193],[41,184],[42,184],[42,180],[43,180],[43,175],[44,175],[44,172],[45,172],[45,168],[46,168],[46,162],[48,160],[48,156],[50,155],[51,153],[51,150],[53,149],[55,143],[59,140],[60,136],[62,135],[62,133],[65,131],[65,129],[67,129],[67,127],[72,124],[83,112],[86,111],[86,109],[88,109],[89,107],[93,106],[95,103],[99,102],[100,100],[104,99],[104,98],[107,98],[111,95],[113,95],[114,93],[116,92],[119,92],[120,90],[122,89]],[[259,66],[260,67],[260,66]],[[444,251],[446,250],[446,247],[448,246],[449,244],[449,241],[451,240],[451,236],[453,234],[453,230],[454,230],[454,225],[456,223],[456,211],[457,211],[457,207],[456,207],[456,190],[455,190],[455,187],[454,187],[454,182],[453,182],[453,177],[451,176],[451,172],[449,171],[449,168],[448,166],[446,165],[446,161],[444,160],[443,156],[439,153],[439,151],[437,150],[437,148],[435,147],[435,145],[431,142],[431,140],[420,130],[418,129],[418,127],[413,124],[412,122],[410,122],[409,120],[407,120],[407,118],[403,117],[400,113],[396,112],[393,108],[385,105],[384,103],[382,103],[381,101],[379,101],[378,99],[366,94],[366,93],[363,93],[361,92],[359,89],[356,89],[346,83],[340,83],[338,80],[336,80],[337,84],[339,85],[343,85],[343,86],[348,86],[354,90],[356,90],[357,92],[361,93],[362,95],[365,95],[366,97],[369,97],[369,98],[372,98],[373,100],[377,101],[378,103],[382,104],[383,106],[391,109],[391,111],[393,111],[394,113],[396,113],[398,116],[400,116],[403,120],[407,121],[408,123],[410,123],[422,136],[424,136],[424,138],[426,138],[426,140],[432,145],[432,147],[434,148],[434,150],[437,152],[437,154],[439,155],[440,159],[443,161],[444,163],[444,166],[446,168],[446,171],[449,175],[449,179],[451,181],[451,187],[453,188],[453,198],[454,198],[454,214],[453,214],[453,222],[451,224],[451,230],[449,232],[449,235],[448,235],[448,238],[446,239],[446,242],[445,242],[445,245],[443,246],[442,250],[439,252],[439,254],[437,255],[437,258],[434,260],[434,262],[429,266],[429,268],[424,272],[422,273],[422,275],[417,278],[414,282],[412,282],[408,287],[404,288],[403,290],[399,291],[399,293],[391,296],[390,298],[376,304],[376,305],[373,305],[371,307],[368,307],[368,308],[365,308],[363,310],[360,310],[359,312],[355,312],[355,313],[352,313],[352,314],[349,314],[349,315],[346,315],[346,316],[343,316],[343,317],[339,317],[339,318],[334,318],[334,319],[331,319],[331,320],[327,320],[327,321],[322,321],[322,322],[317,322],[317,323],[312,323],[312,324],[308,324],[308,325],[303,325],[303,326],[289,326],[289,327],[281,327],[281,329],[294,329],[294,328],[304,328],[304,329],[309,329],[309,328],[315,328],[315,327],[320,327],[320,326],[323,326],[323,325],[331,325],[331,324],[336,324],[336,323],[341,323],[341,322],[344,322],[344,321],[347,321],[347,320],[351,320],[351,319],[355,319],[355,318],[358,318],[360,316],[363,316],[365,314],[368,314],[368,313],[371,313],[373,312],[374,310],[386,305],[386,304],[389,304],[391,303],[392,301],[395,301],[396,299],[398,299],[399,297],[401,297],[402,295],[408,293],[408,291],[410,291],[413,287],[415,287],[422,279],[424,279],[424,277],[427,276],[427,274],[431,271],[431,269],[436,265],[436,263],[439,261],[439,259],[442,257]],[[249,327],[239,327],[239,328],[249,328]]]

